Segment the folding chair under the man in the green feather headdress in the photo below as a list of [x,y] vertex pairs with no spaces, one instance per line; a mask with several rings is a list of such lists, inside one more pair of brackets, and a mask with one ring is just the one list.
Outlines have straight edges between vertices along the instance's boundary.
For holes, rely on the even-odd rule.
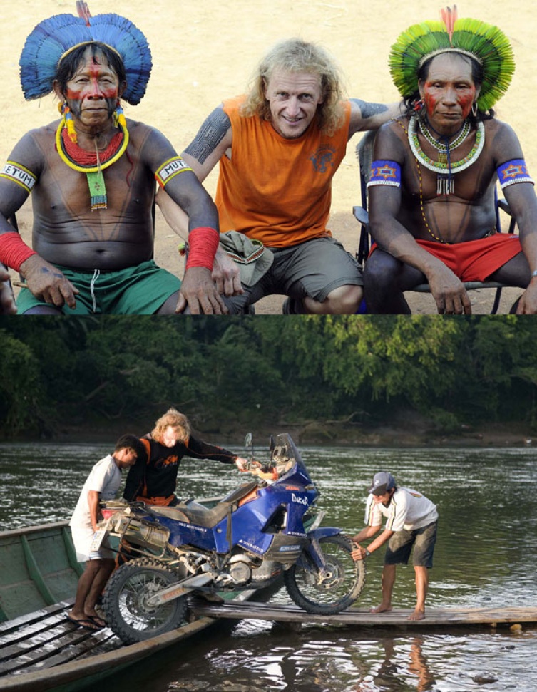
[[[376,131],[368,130],[364,133],[364,136],[359,141],[356,148],[356,155],[359,164],[360,172],[360,199],[362,204],[356,207],[352,207],[352,212],[357,222],[360,224],[360,237],[358,244],[358,251],[356,254],[357,260],[360,266],[363,268],[367,256],[369,255],[369,247],[371,244],[369,235],[369,214],[367,212],[367,182],[371,176],[371,163],[373,159],[373,145]],[[495,205],[496,205],[496,228],[498,232],[501,232],[501,222],[500,222],[500,210],[505,212],[509,217],[508,233],[514,233],[516,228],[516,220],[511,215],[511,210],[506,200],[499,199],[495,192],[494,195]],[[479,282],[471,281],[464,282],[464,287],[467,291],[475,289],[496,289],[496,295],[494,296],[494,301],[491,309],[491,315],[495,315],[498,311],[501,299],[501,289],[503,289],[505,284],[499,282]],[[415,293],[430,293],[429,284],[419,284],[419,286],[414,286],[411,291]]]

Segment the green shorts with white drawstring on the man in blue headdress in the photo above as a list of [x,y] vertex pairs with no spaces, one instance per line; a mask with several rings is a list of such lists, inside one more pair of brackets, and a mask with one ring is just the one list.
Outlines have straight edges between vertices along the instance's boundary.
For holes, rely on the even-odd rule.
[[[152,315],[181,286],[178,277],[160,269],[152,259],[115,272],[100,269],[83,272],[56,266],[80,291],[74,310],[63,306],[65,315]],[[17,314],[22,315],[38,305],[48,304],[37,299],[29,289],[21,289]]]

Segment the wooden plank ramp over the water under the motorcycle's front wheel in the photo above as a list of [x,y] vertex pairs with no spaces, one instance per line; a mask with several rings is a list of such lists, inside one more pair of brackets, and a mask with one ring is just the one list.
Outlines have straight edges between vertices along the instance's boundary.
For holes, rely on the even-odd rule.
[[374,614],[367,609],[350,608],[337,615],[312,615],[294,605],[270,603],[208,604],[191,601],[190,607],[198,616],[214,618],[274,620],[301,624],[324,623],[364,627],[464,626],[537,623],[537,607],[523,608],[427,608],[423,620],[409,620],[411,609],[393,609]]

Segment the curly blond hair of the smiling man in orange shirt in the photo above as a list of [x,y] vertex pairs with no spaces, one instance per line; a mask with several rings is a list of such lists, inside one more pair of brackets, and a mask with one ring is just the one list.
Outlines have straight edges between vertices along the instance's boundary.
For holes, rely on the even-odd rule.
[[252,74],[241,114],[246,117],[258,115],[261,120],[271,120],[265,87],[276,70],[307,72],[319,76],[324,98],[317,108],[319,128],[322,133],[333,135],[344,120],[342,74],[334,58],[324,48],[302,41],[301,38],[280,41],[262,58]]

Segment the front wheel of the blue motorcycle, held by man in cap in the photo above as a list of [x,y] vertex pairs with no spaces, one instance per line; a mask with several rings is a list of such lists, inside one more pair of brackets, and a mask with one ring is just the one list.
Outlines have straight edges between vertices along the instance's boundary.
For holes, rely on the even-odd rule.
[[352,541],[341,534],[319,540],[326,561],[324,576],[307,553],[284,572],[287,593],[307,613],[334,615],[348,608],[364,588],[364,560],[354,560]]

